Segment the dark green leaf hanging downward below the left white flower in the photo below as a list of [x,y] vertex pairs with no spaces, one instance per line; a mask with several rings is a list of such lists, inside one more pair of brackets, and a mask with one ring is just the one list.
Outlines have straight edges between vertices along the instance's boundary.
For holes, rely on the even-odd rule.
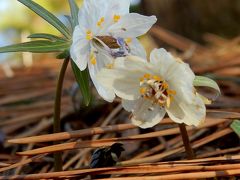
[[86,106],[88,106],[91,101],[91,91],[90,91],[90,86],[89,86],[88,71],[87,71],[87,69],[84,71],[80,71],[80,69],[73,62],[73,60],[71,61],[71,63],[72,63],[72,69],[73,69],[75,78],[76,78],[78,85],[80,87],[80,90],[82,92],[84,103]]

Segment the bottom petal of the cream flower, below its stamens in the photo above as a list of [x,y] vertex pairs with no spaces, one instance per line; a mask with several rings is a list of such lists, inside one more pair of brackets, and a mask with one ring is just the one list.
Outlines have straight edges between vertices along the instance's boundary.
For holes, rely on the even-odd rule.
[[148,100],[140,98],[133,110],[132,123],[141,128],[150,128],[158,124],[166,111],[158,105],[152,105]]

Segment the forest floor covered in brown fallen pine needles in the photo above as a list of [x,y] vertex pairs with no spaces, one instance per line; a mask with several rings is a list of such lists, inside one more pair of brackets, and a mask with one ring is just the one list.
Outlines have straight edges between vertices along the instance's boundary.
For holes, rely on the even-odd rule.
[[[84,107],[70,67],[62,95],[63,133],[53,134],[54,93],[62,61],[45,58],[32,67],[13,68],[11,78],[0,70],[0,179],[89,179],[92,174],[125,180],[240,177],[239,130],[234,128],[240,119],[240,37],[227,40],[208,34],[202,46],[157,26],[149,36],[221,88],[221,95],[207,106],[205,123],[187,127],[196,159],[187,159],[178,125],[167,117],[141,130],[130,123],[119,99],[109,104],[96,96],[89,108]],[[117,166],[89,168],[94,149],[116,142],[125,149]],[[53,170],[56,151],[63,154],[61,172]]]

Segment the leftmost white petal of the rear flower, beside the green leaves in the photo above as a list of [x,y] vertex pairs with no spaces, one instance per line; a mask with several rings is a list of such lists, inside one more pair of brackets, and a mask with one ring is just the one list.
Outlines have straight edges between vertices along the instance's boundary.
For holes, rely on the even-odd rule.
[[82,30],[79,26],[76,26],[73,32],[73,43],[70,48],[70,55],[81,71],[87,67],[90,50],[90,43],[83,37]]

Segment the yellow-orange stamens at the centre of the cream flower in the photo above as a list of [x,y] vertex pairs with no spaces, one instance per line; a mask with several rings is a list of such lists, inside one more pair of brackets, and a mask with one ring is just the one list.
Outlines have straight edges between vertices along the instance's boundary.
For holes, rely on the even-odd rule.
[[168,83],[160,76],[144,74],[140,78],[140,94],[143,98],[161,107],[170,107],[176,91],[169,89]]

